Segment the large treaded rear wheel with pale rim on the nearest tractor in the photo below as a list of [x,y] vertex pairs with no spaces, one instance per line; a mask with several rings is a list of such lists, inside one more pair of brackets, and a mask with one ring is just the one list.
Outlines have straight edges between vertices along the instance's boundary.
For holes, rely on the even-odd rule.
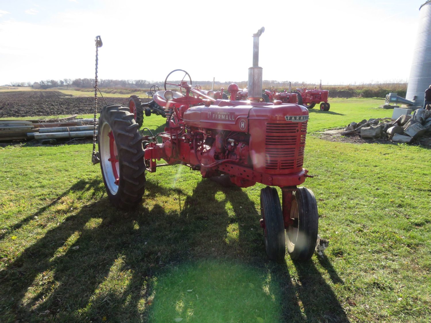
[[139,125],[129,109],[105,106],[99,118],[99,155],[109,201],[117,208],[136,207],[144,195],[145,162]]

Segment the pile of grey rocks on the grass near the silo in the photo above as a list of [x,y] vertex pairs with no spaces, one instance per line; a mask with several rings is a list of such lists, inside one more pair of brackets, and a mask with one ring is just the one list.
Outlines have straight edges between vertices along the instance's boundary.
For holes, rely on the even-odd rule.
[[362,120],[352,122],[341,133],[360,135],[362,138],[387,138],[396,143],[416,143],[429,141],[431,137],[431,111],[417,109],[413,115],[401,115],[397,120],[390,118]]

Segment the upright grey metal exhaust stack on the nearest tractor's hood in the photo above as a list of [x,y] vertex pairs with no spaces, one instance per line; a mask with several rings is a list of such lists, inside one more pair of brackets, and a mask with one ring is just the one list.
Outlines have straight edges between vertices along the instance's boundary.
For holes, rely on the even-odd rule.
[[253,66],[248,69],[248,99],[258,101],[262,97],[262,68],[259,67],[259,37],[265,31],[260,28],[253,34]]

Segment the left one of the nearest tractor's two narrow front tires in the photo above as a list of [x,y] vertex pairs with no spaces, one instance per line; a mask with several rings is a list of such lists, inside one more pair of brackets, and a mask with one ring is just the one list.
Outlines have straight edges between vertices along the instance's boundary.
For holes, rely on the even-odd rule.
[[260,190],[260,210],[266,255],[271,260],[281,261],[286,253],[286,238],[283,212],[275,187],[266,186]]

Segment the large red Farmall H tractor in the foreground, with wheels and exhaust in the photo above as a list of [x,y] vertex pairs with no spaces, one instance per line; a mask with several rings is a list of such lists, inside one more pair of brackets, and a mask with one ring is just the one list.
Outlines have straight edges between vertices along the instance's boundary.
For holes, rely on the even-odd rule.
[[[154,94],[154,101],[169,114],[165,131],[154,137],[141,136],[128,107],[105,106],[99,118],[100,167],[110,202],[123,209],[141,203],[146,173],[166,165],[190,167],[204,178],[223,175],[239,187],[262,183],[266,187],[260,193],[260,226],[268,257],[284,259],[287,245],[292,259],[306,261],[318,232],[315,196],[298,187],[312,177],[303,168],[309,114],[297,104],[258,102],[263,31],[253,34],[249,101],[235,101],[235,86],[230,100],[214,99],[183,80],[175,85],[185,95],[171,90]],[[166,163],[157,163],[161,159]]]

